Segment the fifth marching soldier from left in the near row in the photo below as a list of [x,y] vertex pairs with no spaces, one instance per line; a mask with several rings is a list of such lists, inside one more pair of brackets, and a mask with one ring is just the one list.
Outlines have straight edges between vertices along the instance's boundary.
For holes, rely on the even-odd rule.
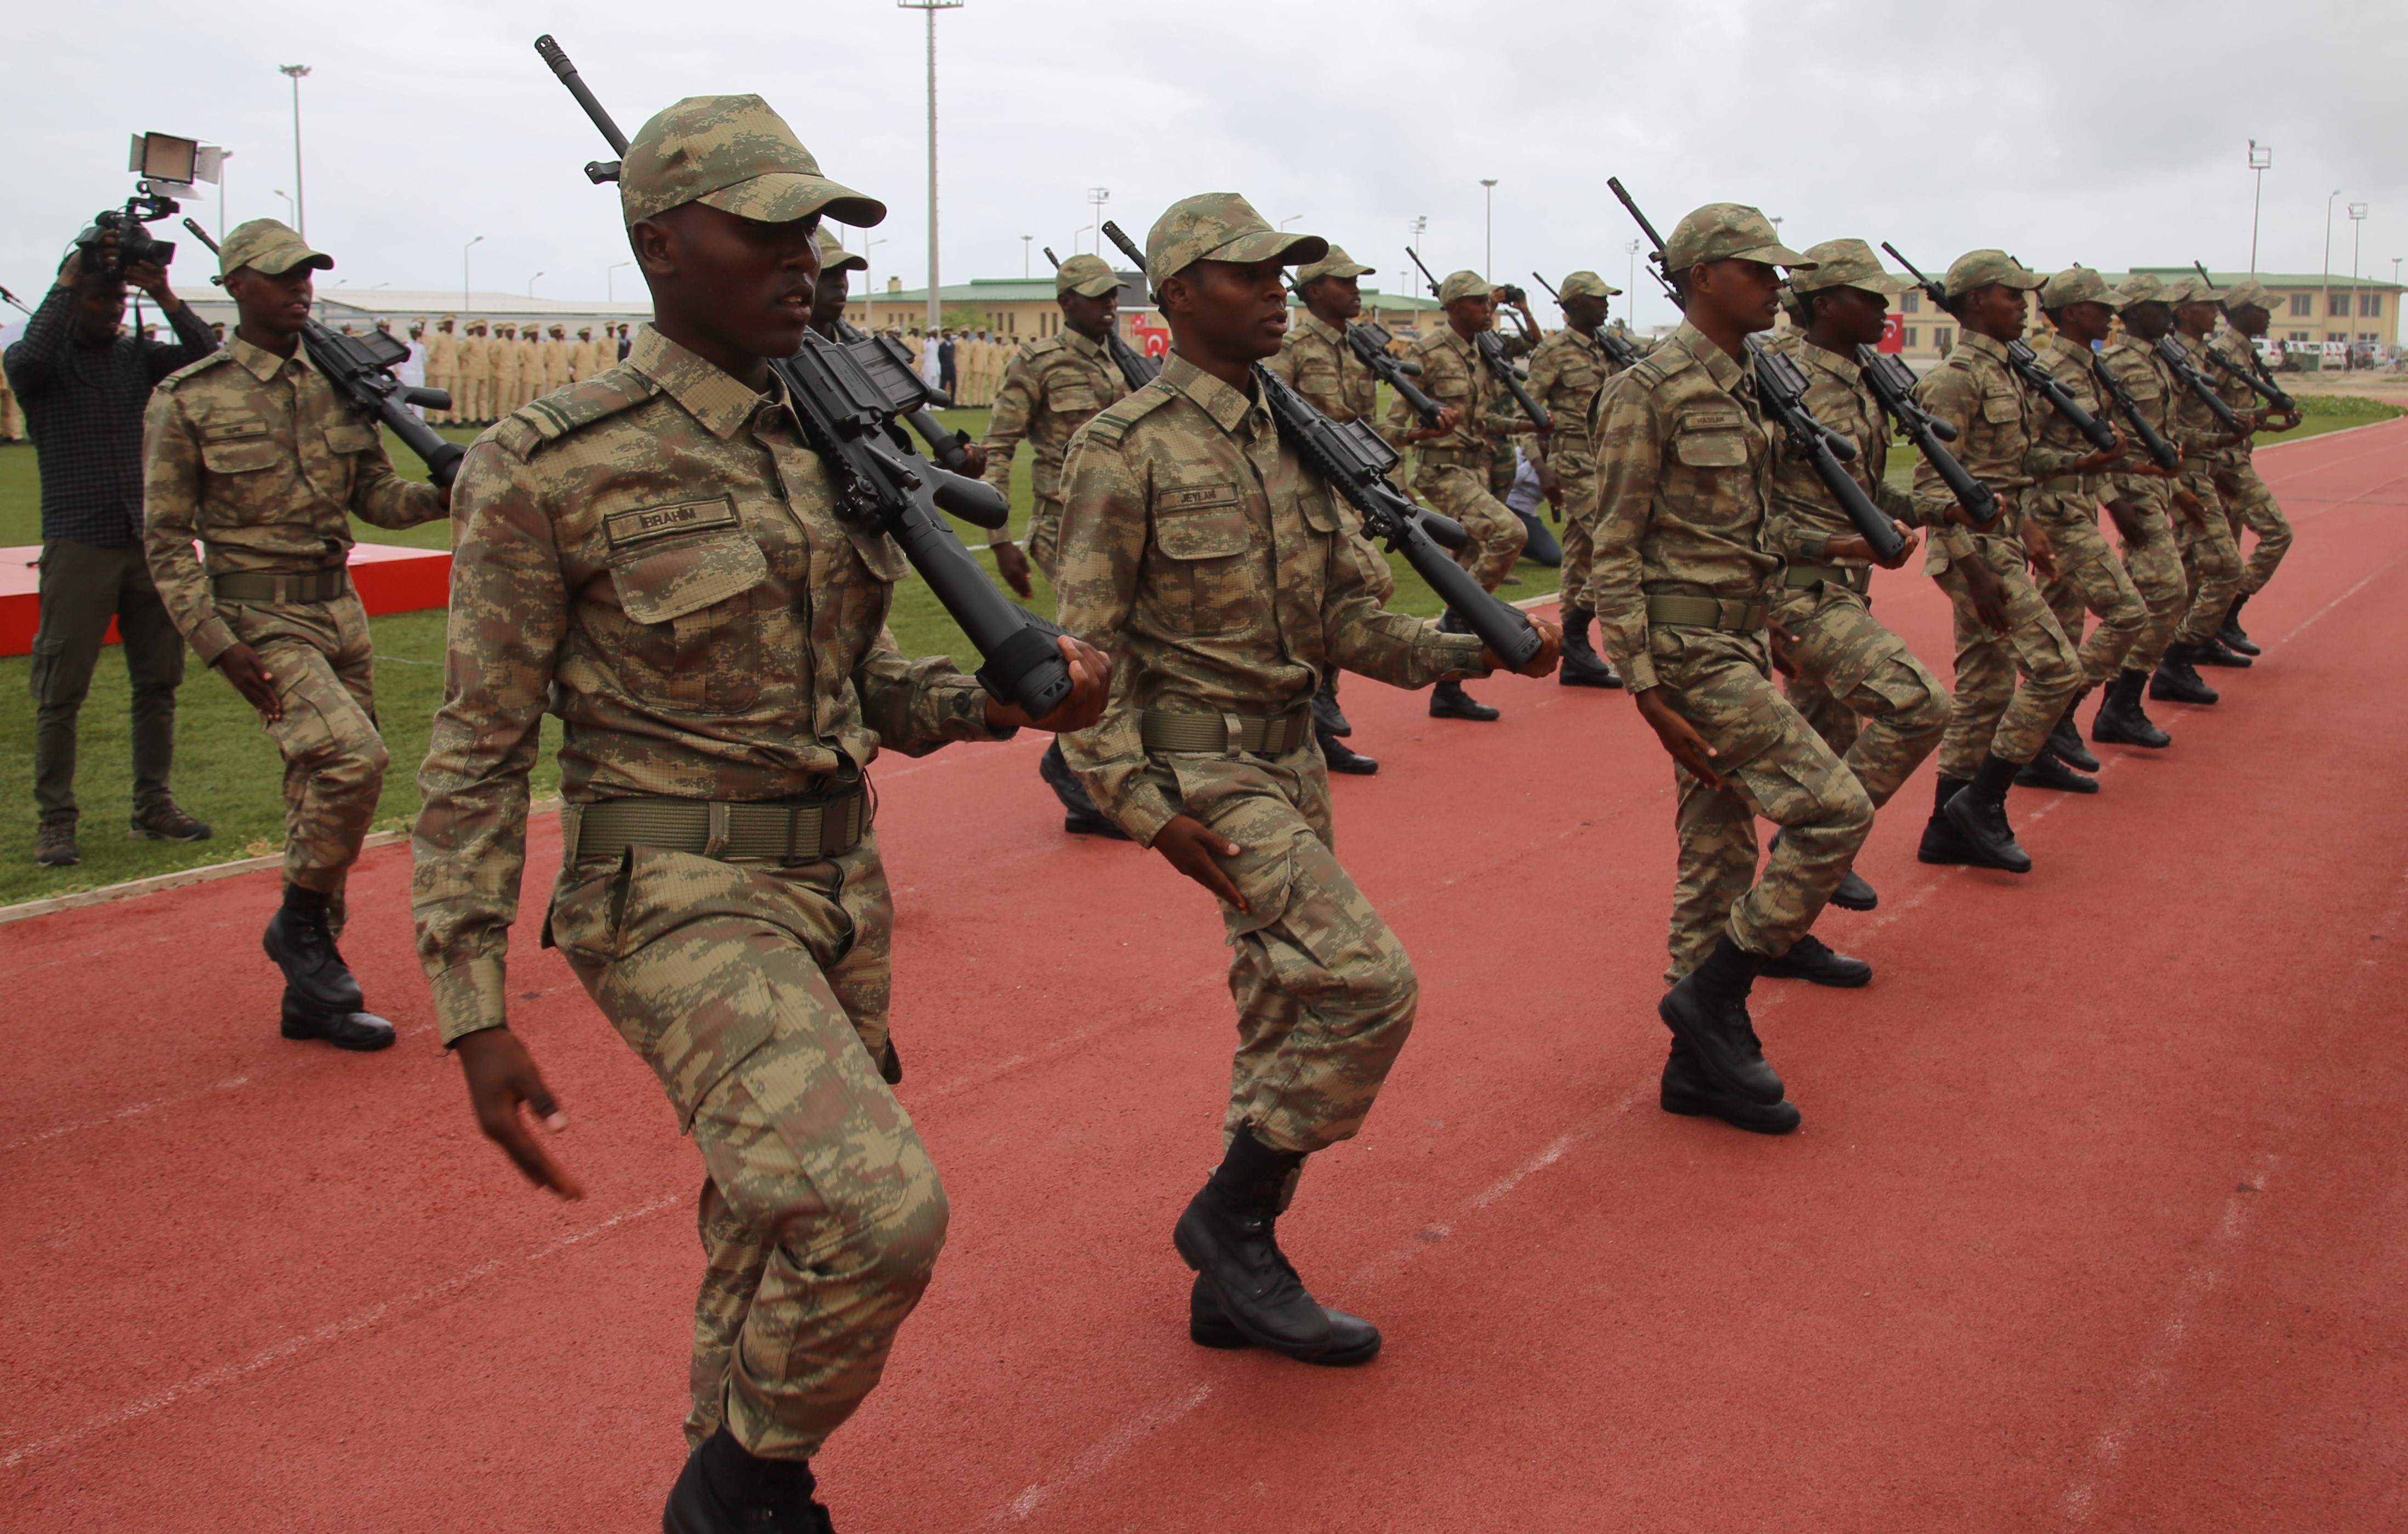
[[2006,250],[1960,255],[1946,279],[1958,347],[1914,388],[1924,409],[1955,426],[1965,472],[1999,496],[1996,525],[1975,532],[1931,462],[1914,465],[1914,503],[1936,530],[1924,573],[1948,592],[1958,643],[1938,787],[1914,855],[2008,874],[2032,872],[2032,857],[2006,819],[2006,790],[2047,749],[2083,686],[2081,655],[2025,568],[2056,573],[2049,530],[2028,506],[2032,479],[2090,474],[2117,460],[2035,448],[2049,405],[2008,366],[2006,344],[2023,340],[2023,296],[2042,282]]

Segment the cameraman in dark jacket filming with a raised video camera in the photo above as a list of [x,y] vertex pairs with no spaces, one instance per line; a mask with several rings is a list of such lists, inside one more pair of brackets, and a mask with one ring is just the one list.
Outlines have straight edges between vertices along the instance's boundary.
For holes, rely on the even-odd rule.
[[[118,265],[118,231],[58,270],[24,340],[7,349],[41,465],[41,629],[34,636],[34,862],[72,867],[75,715],[92,689],[108,619],[132,679],[135,814],[130,836],[200,840],[209,828],[169,797],[183,636],[142,556],[142,409],[152,385],[217,352],[217,337],[166,284],[166,267]],[[176,344],[118,335],[128,284],[176,328]]]

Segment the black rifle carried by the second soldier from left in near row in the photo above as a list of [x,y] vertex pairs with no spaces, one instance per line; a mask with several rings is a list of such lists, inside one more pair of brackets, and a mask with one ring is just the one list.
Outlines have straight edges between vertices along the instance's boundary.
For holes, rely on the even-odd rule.
[[[1103,231],[1112,236],[1129,260],[1144,265],[1137,243],[1115,224]],[[1346,496],[1346,503],[1363,515],[1363,535],[1387,539],[1389,551],[1404,549],[1404,561],[1430,583],[1464,626],[1481,636],[1507,667],[1522,667],[1539,653],[1541,638],[1519,609],[1498,602],[1481,590],[1471,573],[1447,556],[1471,542],[1464,525],[1423,511],[1389,482],[1399,458],[1387,441],[1373,431],[1370,421],[1346,421],[1339,426],[1312,407],[1310,400],[1281,383],[1259,361],[1255,364],[1255,388],[1262,393],[1279,441],[1296,450],[1308,470],[1329,482],[1329,489]]]

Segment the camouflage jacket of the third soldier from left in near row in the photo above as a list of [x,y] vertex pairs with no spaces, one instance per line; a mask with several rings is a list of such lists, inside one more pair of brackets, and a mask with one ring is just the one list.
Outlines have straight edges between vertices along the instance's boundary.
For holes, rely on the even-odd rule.
[[1758,602],[1772,436],[1755,371],[1681,323],[1597,397],[1597,643],[1630,691],[1657,684],[1647,597]]

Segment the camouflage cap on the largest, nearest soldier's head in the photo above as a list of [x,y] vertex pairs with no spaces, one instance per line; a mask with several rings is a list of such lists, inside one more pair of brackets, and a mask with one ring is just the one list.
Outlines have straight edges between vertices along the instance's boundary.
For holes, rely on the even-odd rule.
[[761,224],[826,214],[867,229],[886,217],[877,197],[821,176],[761,96],[686,96],[636,130],[619,161],[619,212],[636,224],[686,202]]

